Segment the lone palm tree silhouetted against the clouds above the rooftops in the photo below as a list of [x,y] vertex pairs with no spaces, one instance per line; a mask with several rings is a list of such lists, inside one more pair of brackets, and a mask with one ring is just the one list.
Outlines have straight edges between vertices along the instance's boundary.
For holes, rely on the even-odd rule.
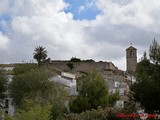
[[45,60],[47,58],[47,51],[45,50],[45,47],[38,46],[34,50],[33,58],[37,60],[38,65],[42,60]]

